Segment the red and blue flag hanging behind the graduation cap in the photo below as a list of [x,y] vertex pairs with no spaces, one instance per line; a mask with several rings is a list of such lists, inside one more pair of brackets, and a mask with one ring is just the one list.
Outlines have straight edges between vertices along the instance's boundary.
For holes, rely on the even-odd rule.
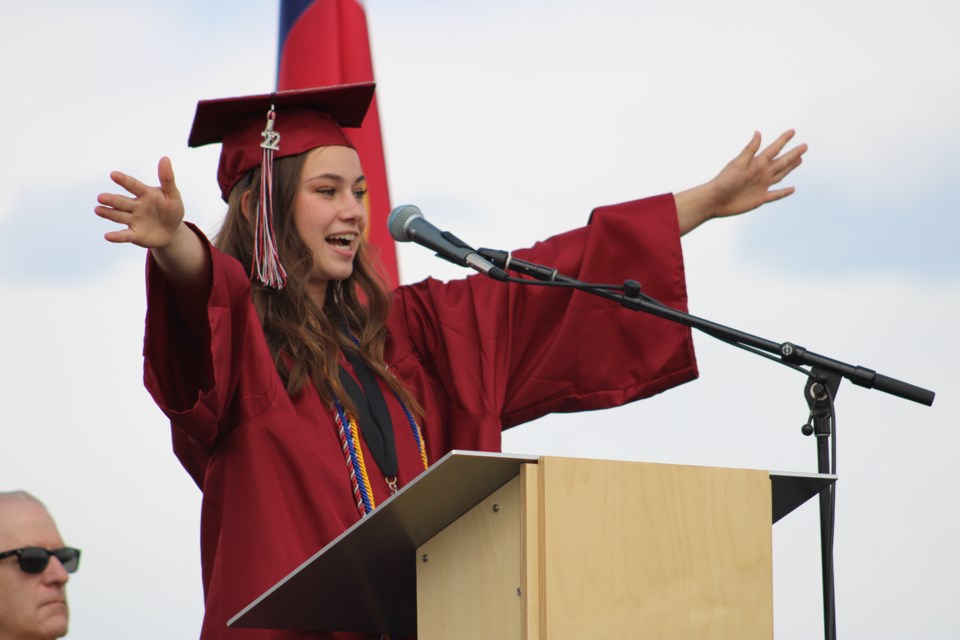
[[[367,17],[358,0],[281,0],[277,89],[373,81]],[[387,230],[390,192],[377,98],[360,129],[349,132],[367,178],[367,235],[390,288],[399,282],[397,251]]]

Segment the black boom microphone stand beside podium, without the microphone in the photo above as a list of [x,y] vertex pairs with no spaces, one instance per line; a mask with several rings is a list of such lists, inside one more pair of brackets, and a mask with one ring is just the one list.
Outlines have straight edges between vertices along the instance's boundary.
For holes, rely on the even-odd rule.
[[[836,475],[836,417],[833,399],[843,378],[855,385],[883,391],[905,400],[927,406],[933,404],[934,392],[891,378],[861,366],[852,366],[839,360],[808,351],[793,342],[773,342],[710,320],[678,311],[641,292],[640,283],[626,280],[622,285],[604,285],[581,282],[560,274],[556,269],[512,257],[508,252],[478,249],[477,253],[496,266],[534,278],[508,277],[505,282],[521,285],[553,286],[584,291],[619,303],[632,311],[651,315],[698,329],[735,347],[779,362],[807,376],[804,398],[810,407],[810,416],[802,432],[816,436],[817,470],[821,474]],[[804,367],[809,367],[805,369]],[[832,445],[832,451],[831,451]],[[836,508],[836,486],[820,492],[820,554],[823,578],[824,637],[836,639],[836,602],[833,575],[833,532]]]

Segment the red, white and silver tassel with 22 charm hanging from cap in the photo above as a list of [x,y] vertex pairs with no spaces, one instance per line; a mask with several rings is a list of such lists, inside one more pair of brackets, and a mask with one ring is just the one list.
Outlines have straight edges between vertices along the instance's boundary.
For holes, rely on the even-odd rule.
[[253,265],[250,277],[256,275],[264,286],[283,289],[287,272],[280,264],[277,238],[273,230],[273,152],[280,149],[280,134],[273,130],[277,114],[271,108],[267,114],[267,128],[260,135],[263,142],[263,160],[260,165],[260,200],[253,236]]

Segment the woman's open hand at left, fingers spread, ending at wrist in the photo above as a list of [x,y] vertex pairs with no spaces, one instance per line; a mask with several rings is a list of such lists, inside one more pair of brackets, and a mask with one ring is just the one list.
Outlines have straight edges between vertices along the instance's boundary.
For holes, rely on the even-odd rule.
[[108,242],[129,242],[146,249],[163,249],[174,239],[183,222],[183,199],[177,189],[170,158],[160,158],[159,187],[150,187],[120,171],[110,179],[133,197],[114,193],[97,196],[94,212],[101,218],[126,225],[126,229],[104,234]]

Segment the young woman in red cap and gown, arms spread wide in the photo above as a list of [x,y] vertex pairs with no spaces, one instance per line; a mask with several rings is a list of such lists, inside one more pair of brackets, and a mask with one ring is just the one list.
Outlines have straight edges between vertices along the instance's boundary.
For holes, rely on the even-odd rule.
[[[688,329],[593,296],[478,275],[385,292],[343,131],[364,91],[200,103],[192,144],[223,144],[214,246],[184,222],[167,158],[158,187],[114,172],[130,195],[98,197],[124,227],[106,239],[149,250],[145,382],[203,491],[205,640],[360,637],[226,621],[447,451],[499,450],[505,428],[696,377]],[[263,149],[274,124],[279,149]],[[600,207],[518,256],[589,282],[636,278],[685,309],[680,236],[792,193],[771,190],[806,150],[781,154],[792,135],[759,152],[755,134],[712,181]]]

